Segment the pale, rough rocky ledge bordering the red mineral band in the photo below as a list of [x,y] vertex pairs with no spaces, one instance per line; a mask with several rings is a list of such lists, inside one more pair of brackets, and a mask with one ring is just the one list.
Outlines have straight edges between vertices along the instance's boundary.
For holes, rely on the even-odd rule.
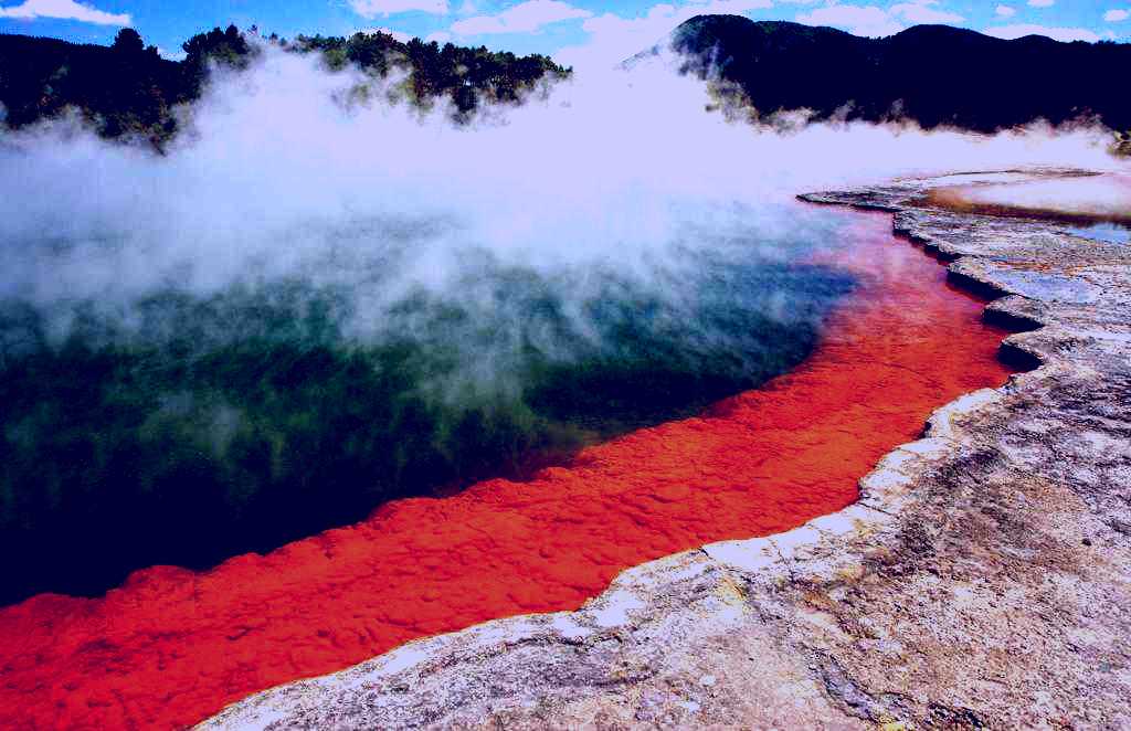
[[922,203],[947,182],[804,198],[892,212],[1035,370],[935,412],[857,504],[202,728],[1131,728],[1131,247]]

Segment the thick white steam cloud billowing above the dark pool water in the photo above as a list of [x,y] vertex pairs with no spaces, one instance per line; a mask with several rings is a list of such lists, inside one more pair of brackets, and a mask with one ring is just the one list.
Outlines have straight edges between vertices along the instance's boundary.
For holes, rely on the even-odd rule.
[[[352,93],[360,84],[369,101]],[[1086,129],[756,129],[706,111],[705,85],[662,58],[466,127],[444,109],[390,104],[373,85],[266,46],[250,71],[216,75],[165,156],[74,122],[0,132],[0,299],[51,311],[95,301],[128,318],[131,301],[163,287],[301,277],[352,291],[351,327],[364,334],[422,287],[481,296],[468,282],[489,261],[549,281],[571,272],[571,290],[616,272],[679,301],[691,296],[680,290],[689,248],[772,260],[837,246],[835,214],[793,205],[798,192],[1112,166],[1106,138]]]

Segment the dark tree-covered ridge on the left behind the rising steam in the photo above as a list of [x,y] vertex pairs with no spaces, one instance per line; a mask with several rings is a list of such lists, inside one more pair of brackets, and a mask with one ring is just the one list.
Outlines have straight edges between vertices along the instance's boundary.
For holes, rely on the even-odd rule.
[[[321,52],[331,68],[353,62],[378,76],[404,71],[415,102],[448,96],[459,114],[481,100],[515,102],[539,79],[570,74],[544,55],[440,46],[418,38],[402,43],[386,33],[349,38],[300,35],[293,41],[273,35],[265,41],[296,53]],[[143,136],[161,146],[176,132],[173,105],[200,95],[208,61],[242,68],[257,48],[234,26],[189,38],[183,61],[162,59],[130,28],[121,31],[112,46],[0,35],[0,120],[23,127],[71,108],[105,137]]]

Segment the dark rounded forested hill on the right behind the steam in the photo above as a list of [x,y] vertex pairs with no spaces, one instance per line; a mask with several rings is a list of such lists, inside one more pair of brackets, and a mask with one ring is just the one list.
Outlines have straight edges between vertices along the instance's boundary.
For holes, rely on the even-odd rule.
[[697,16],[673,34],[687,70],[737,85],[761,114],[912,119],[994,131],[1043,118],[1098,115],[1131,129],[1131,44],[1003,41],[921,25],[886,38],[834,28]]

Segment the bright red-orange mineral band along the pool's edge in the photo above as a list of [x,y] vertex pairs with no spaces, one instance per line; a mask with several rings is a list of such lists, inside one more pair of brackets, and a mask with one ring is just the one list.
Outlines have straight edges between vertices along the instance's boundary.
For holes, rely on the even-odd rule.
[[835,264],[863,285],[794,372],[529,482],[400,500],[208,573],[146,569],[103,599],[0,610],[0,725],[184,726],[417,637],[575,609],[650,559],[845,507],[933,408],[1009,373],[1002,332],[943,267],[895,241],[888,216],[849,221],[854,244]]

